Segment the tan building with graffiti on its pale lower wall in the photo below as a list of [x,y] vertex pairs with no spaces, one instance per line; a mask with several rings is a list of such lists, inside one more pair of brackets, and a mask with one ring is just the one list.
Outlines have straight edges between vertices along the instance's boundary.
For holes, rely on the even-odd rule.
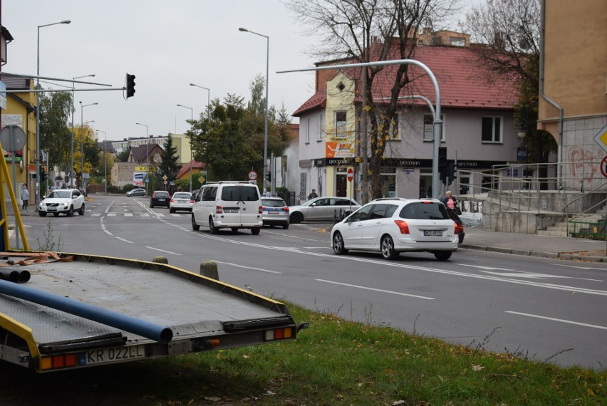
[[604,191],[607,2],[543,0],[541,5],[538,127],[559,143],[565,189]]

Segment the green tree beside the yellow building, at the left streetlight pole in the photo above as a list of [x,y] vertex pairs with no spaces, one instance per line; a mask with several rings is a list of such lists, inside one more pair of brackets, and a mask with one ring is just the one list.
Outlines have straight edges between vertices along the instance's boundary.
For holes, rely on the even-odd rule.
[[70,108],[69,92],[40,94],[40,150],[48,150],[51,165],[57,165],[60,170],[68,169],[71,164]]

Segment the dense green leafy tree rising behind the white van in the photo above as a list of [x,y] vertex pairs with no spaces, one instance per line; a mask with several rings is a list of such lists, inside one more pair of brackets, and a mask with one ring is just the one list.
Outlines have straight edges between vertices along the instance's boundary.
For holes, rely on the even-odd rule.
[[207,116],[194,122],[194,159],[207,165],[209,179],[244,180],[254,164],[259,170],[263,159],[251,146],[243,100],[232,94],[223,103],[212,100]]

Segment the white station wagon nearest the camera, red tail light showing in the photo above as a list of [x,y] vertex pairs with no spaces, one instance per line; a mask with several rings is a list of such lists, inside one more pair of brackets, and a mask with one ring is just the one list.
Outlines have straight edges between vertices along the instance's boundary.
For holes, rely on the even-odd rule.
[[401,252],[430,251],[447,261],[457,251],[457,224],[437,199],[380,199],[354,212],[331,230],[333,251],[377,251],[385,259]]

